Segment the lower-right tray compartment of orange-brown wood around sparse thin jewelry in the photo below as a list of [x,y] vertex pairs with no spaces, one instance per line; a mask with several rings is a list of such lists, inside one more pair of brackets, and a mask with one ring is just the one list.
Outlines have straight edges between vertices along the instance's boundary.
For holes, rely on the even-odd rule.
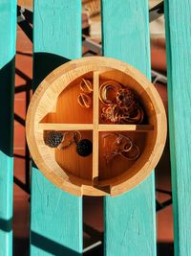
[[[107,179],[117,178],[120,179],[120,175],[127,175],[129,178],[138,172],[138,168],[146,163],[146,160],[150,153],[153,151],[154,143],[154,131],[101,131],[99,132],[99,181],[107,183]],[[131,138],[134,145],[138,146],[139,155],[135,160],[129,160],[121,154],[113,153],[115,150],[121,150],[122,146],[117,147],[117,136],[127,136]],[[128,143],[127,140],[123,140],[123,144]],[[129,146],[128,146],[129,147]],[[135,149],[135,148],[134,148]],[[130,151],[126,156],[136,155],[135,151]],[[104,182],[102,182],[104,181]],[[110,184],[110,181],[109,181]]]

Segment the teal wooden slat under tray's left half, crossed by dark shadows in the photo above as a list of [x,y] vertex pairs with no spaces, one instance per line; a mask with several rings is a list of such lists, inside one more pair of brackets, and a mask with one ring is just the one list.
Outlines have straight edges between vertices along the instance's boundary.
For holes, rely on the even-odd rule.
[[[33,88],[68,58],[81,57],[81,1],[34,0]],[[57,189],[32,168],[31,255],[82,252],[82,198]]]

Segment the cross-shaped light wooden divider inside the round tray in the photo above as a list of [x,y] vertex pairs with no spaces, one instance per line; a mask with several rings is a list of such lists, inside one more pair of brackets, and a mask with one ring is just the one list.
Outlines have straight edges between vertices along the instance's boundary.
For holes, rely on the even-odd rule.
[[[135,131],[148,132],[153,130],[153,125],[111,125],[99,124],[99,71],[93,72],[93,124],[58,124],[58,123],[39,123],[38,127],[43,130],[93,130],[93,172],[92,184],[98,186],[98,152],[99,152],[99,132],[100,131]],[[80,106],[79,106],[80,107]]]

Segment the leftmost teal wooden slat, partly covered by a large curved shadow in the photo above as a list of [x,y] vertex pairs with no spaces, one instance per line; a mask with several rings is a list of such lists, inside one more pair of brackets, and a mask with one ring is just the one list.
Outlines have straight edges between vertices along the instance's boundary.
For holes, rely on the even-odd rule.
[[0,255],[12,255],[13,92],[16,1],[0,1]]

